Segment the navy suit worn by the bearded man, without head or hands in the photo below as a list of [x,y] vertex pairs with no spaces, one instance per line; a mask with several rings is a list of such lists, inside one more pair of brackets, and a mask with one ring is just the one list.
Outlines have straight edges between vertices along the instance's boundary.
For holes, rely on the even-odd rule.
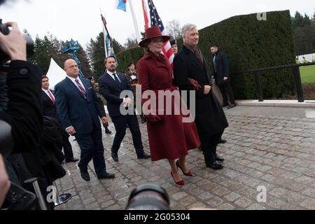
[[118,78],[120,79],[120,82],[114,80],[108,73],[105,73],[99,78],[99,90],[107,101],[109,116],[111,116],[111,120],[116,129],[116,135],[111,150],[113,153],[118,153],[120,144],[125,137],[128,124],[130,132],[132,132],[134,148],[136,148],[138,157],[141,157],[144,155],[144,146],[141,141],[141,132],[137,116],[135,113],[134,115],[128,114],[127,116],[123,116],[120,113],[120,105],[123,104],[123,99],[120,98],[120,93],[123,92],[123,90],[130,90],[132,92],[132,86],[124,74],[118,73]]

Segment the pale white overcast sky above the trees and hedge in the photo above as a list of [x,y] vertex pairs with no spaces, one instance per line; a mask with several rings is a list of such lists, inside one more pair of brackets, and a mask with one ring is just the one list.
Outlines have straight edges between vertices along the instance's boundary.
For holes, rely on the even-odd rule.
[[[12,3],[10,3],[12,1]],[[128,0],[127,0],[128,1]],[[27,29],[31,36],[41,38],[50,32],[62,41],[73,38],[87,45],[102,31],[100,8],[107,20],[109,33],[121,44],[128,37],[135,37],[132,15],[127,3],[127,13],[115,8],[116,0],[7,0],[0,6],[3,22],[18,22],[20,29]],[[271,10],[299,11],[314,14],[314,0],[153,0],[165,27],[171,20],[181,26],[190,22],[204,28],[234,15],[244,15]],[[139,29],[144,30],[141,0],[132,0]]]

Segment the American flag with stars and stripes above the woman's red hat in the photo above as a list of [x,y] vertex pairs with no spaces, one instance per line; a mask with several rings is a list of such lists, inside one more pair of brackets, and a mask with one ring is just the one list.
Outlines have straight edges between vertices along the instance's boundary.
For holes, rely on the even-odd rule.
[[[158,14],[158,10],[156,10],[154,3],[152,0],[148,0],[148,5],[146,4],[146,0],[142,0],[142,7],[144,9],[144,21],[146,25],[146,29],[150,27],[159,27],[162,35],[168,36],[167,31],[163,25],[163,22]],[[148,13],[148,9],[150,12]],[[148,15],[150,14],[150,18]],[[151,22],[149,22],[151,21]],[[174,53],[172,51],[172,46],[169,41],[165,42],[163,45],[163,54],[167,56],[169,59],[169,64],[173,64]]]

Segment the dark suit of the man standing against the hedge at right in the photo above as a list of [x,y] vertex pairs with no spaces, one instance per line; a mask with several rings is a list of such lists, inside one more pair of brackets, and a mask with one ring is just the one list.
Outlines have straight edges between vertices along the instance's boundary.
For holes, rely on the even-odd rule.
[[[217,52],[212,59],[212,64],[214,67],[214,79],[216,83],[218,83],[223,97],[223,105],[228,105],[228,99],[230,100],[230,104],[235,104],[229,75],[228,57],[223,52]],[[224,77],[228,77],[228,80],[224,81]]]

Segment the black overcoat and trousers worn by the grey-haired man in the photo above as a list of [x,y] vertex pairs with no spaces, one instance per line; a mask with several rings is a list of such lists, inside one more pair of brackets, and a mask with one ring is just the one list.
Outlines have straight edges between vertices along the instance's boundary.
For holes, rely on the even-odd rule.
[[[195,90],[188,80],[188,78],[192,78],[202,86],[196,90],[195,123],[200,136],[202,151],[204,151],[204,160],[206,164],[210,164],[215,161],[216,145],[221,139],[225,127],[228,127],[228,121],[213,90],[207,95],[204,94],[204,85],[212,85],[212,83],[203,55],[202,59],[204,63],[184,45],[183,50],[174,58],[174,84],[181,91]],[[188,108],[190,108],[190,102],[188,102]],[[193,108],[190,108],[191,110]]]

